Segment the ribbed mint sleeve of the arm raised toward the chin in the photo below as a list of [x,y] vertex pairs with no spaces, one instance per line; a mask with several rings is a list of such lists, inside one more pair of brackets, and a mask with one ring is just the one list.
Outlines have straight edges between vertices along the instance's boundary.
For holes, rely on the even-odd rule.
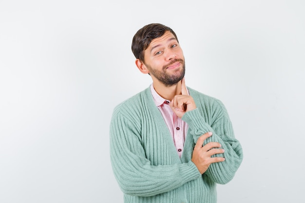
[[242,147],[234,137],[229,115],[224,105],[212,97],[203,96],[192,90],[190,92],[197,109],[186,112],[182,119],[189,125],[194,143],[202,134],[211,131],[213,135],[205,141],[204,145],[208,142],[218,142],[225,149],[224,154],[215,156],[225,157],[226,160],[211,164],[205,174],[215,183],[226,184],[234,177],[242,163]]

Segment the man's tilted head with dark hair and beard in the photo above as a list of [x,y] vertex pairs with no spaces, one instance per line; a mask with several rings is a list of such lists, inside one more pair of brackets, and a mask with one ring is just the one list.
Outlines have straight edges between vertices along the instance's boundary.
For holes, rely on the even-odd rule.
[[183,52],[171,28],[158,23],[144,26],[133,37],[132,51],[138,69],[150,74],[154,83],[172,86],[184,77]]

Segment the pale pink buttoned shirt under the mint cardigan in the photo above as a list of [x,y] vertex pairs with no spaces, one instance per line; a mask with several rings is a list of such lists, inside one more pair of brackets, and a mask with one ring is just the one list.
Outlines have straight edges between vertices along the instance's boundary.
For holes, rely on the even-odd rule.
[[160,110],[164,118],[164,121],[172,135],[172,140],[176,147],[177,153],[179,157],[181,157],[181,154],[183,152],[185,137],[187,135],[189,126],[186,122],[184,122],[172,111],[172,108],[170,107],[171,101],[162,98],[154,90],[153,85],[151,85],[151,92],[152,92],[153,101],[157,106],[157,108]]

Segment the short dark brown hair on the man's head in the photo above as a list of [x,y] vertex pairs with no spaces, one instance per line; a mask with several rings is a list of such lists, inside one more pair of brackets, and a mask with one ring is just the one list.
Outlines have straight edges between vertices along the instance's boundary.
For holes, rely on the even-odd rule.
[[178,41],[176,34],[171,28],[159,23],[148,24],[139,29],[133,36],[132,42],[132,51],[135,58],[144,62],[144,50],[150,45],[152,39],[163,36],[166,31],[170,31]]

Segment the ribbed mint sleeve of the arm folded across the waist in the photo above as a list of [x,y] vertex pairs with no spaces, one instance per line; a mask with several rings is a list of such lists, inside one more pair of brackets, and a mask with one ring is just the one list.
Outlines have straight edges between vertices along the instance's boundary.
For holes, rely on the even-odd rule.
[[154,166],[145,156],[141,124],[135,116],[114,111],[110,125],[110,156],[114,176],[125,194],[153,196],[171,191],[201,174],[192,163]]

